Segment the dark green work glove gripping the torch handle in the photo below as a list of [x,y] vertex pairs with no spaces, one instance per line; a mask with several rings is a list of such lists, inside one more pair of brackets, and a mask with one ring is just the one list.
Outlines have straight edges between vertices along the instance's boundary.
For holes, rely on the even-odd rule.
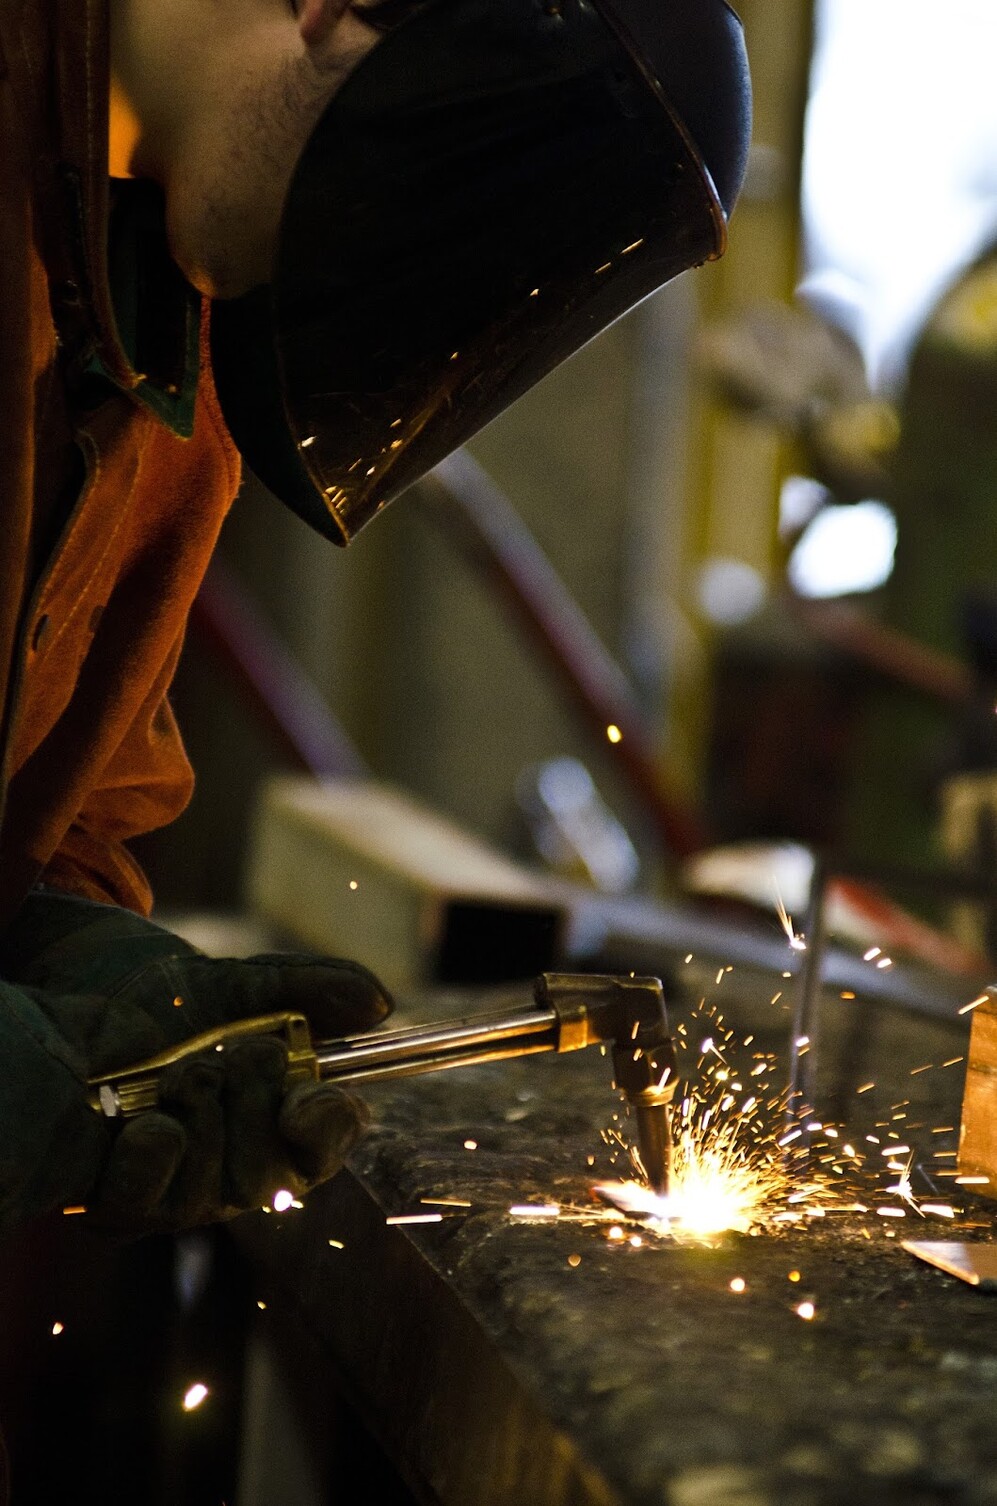
[[122,1126],[86,1081],[217,1026],[294,1011],[316,1039],[392,1001],[354,962],[215,959],[111,905],[36,890],[0,937],[0,1226],[60,1203],[125,1232],[173,1230],[300,1194],[342,1164],[366,1110],[330,1083],[285,1092],[286,1050],[247,1039],[167,1068]]

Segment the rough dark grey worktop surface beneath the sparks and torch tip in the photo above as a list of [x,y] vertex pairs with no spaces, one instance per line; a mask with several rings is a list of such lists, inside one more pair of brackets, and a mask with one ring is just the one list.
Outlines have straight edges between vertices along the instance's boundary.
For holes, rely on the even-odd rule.
[[[854,1030],[836,1024],[831,1006],[827,1014],[830,1071]],[[910,1077],[919,1059],[955,1056],[953,1041],[952,1027],[884,1011],[874,1032],[881,1101],[916,1092],[926,1125],[958,1123],[956,1072]],[[535,1417],[553,1420],[619,1501],[997,1498],[997,1301],[899,1248],[904,1236],[952,1235],[941,1220],[911,1214],[895,1221],[895,1238],[869,1214],[726,1235],[712,1247],[645,1239],[633,1248],[607,1239],[596,1221],[508,1214],[514,1202],[590,1206],[590,1182],[611,1170],[599,1128],[617,1105],[598,1053],[440,1074],[370,1089],[369,1098],[377,1125],[354,1155],[352,1178],[387,1214],[426,1211],[426,1197],[471,1203],[443,1209],[440,1224],[392,1233],[435,1273],[428,1291],[455,1295],[470,1312]],[[476,1151],[464,1148],[467,1139]],[[280,1280],[298,1298],[334,1283],[330,1236],[346,1244],[336,1259],[364,1261],[352,1230],[336,1221],[340,1202],[333,1184],[297,1224],[282,1220],[283,1232],[273,1218],[258,1220],[267,1229],[253,1236],[256,1259],[273,1271],[280,1251]],[[967,1238],[986,1236],[986,1205],[974,1221],[980,1227]],[[791,1270],[801,1273],[798,1283],[788,1280]],[[729,1286],[735,1276],[747,1283],[741,1295]],[[425,1292],[420,1300],[435,1301]],[[801,1300],[816,1306],[812,1322],[795,1312]],[[402,1312],[407,1291],[370,1289],[369,1301]],[[304,1306],[321,1327],[322,1297]],[[464,1384],[474,1386],[473,1357],[447,1363],[464,1366]],[[431,1375],[425,1386],[432,1390]],[[480,1443],[467,1438],[468,1449]]]

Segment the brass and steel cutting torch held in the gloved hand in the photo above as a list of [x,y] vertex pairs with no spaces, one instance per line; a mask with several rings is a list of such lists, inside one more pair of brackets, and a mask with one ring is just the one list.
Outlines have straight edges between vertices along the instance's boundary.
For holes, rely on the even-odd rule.
[[614,1084],[634,1114],[648,1182],[657,1193],[669,1190],[676,1069],[664,992],[657,977],[541,973],[533,983],[533,1003],[524,1008],[407,1030],[373,1030],[339,1041],[313,1042],[301,1014],[238,1020],[137,1066],[92,1078],[90,1104],[108,1119],[130,1119],[155,1107],[160,1074],[173,1062],[203,1051],[223,1051],[258,1035],[276,1035],[285,1042],[288,1086],[303,1080],[363,1086],[541,1051],[607,1047]]

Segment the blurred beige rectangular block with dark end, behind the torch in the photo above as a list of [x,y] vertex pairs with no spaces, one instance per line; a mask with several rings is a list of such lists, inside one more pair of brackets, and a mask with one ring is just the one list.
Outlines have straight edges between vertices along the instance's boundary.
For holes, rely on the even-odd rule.
[[569,913],[542,873],[363,779],[267,782],[248,901],[301,946],[366,962],[395,989],[532,977],[557,965]]

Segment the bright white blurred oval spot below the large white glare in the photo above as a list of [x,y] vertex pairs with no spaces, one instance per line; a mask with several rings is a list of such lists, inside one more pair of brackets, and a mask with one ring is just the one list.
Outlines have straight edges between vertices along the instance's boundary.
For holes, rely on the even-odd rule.
[[875,590],[893,574],[896,518],[883,501],[822,508],[789,556],[786,574],[800,596]]

